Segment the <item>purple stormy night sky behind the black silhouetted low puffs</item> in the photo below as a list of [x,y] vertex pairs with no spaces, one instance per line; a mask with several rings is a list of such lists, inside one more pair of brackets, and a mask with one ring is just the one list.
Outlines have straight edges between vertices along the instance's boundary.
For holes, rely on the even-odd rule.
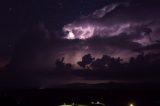
[[[157,74],[149,76],[150,72],[144,70],[104,75],[82,72],[77,64],[88,53],[95,58],[104,54],[120,57],[124,63],[140,53],[160,53],[157,1],[3,1],[0,85],[47,88],[80,82],[160,81]],[[73,65],[74,72],[54,71],[56,59],[62,57],[65,63]]]

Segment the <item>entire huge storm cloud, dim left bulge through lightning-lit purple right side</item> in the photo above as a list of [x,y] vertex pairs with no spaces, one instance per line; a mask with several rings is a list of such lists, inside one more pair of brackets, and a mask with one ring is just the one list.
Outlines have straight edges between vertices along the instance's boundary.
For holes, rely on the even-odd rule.
[[73,31],[77,34],[75,36],[83,33],[89,35],[89,38],[84,37],[88,39],[83,37],[63,39],[66,33],[55,35],[43,24],[39,24],[38,29],[29,33],[26,31],[25,35],[22,35],[15,47],[12,60],[20,61],[17,64],[27,60],[25,63],[33,66],[34,64],[53,66],[58,57],[65,57],[66,62],[76,64],[86,53],[91,53],[95,57],[109,54],[127,59],[139,53],[140,48],[152,45],[159,38],[158,10],[157,4],[111,3],[63,27],[63,29],[78,27],[77,30],[80,31]]

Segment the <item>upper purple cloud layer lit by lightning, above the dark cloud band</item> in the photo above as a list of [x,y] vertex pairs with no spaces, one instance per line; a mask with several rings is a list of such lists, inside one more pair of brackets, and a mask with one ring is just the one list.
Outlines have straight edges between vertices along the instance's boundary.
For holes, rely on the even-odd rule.
[[[69,32],[68,39],[86,39],[93,36],[112,37],[121,33],[143,31],[143,28],[150,28],[154,31],[159,23],[158,10],[159,6],[156,4],[152,6],[114,3],[65,25],[63,30]],[[137,33],[136,36],[141,37],[141,33]],[[143,44],[144,42],[139,43]]]

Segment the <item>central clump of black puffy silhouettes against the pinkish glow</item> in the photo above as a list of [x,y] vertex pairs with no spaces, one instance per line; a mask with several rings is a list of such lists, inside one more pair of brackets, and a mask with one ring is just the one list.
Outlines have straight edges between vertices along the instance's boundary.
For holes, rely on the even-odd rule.
[[103,55],[102,58],[95,60],[91,54],[87,54],[84,55],[82,61],[77,62],[77,64],[82,68],[92,68],[93,70],[115,70],[122,68],[121,61],[123,60],[120,57],[114,58],[108,55]]

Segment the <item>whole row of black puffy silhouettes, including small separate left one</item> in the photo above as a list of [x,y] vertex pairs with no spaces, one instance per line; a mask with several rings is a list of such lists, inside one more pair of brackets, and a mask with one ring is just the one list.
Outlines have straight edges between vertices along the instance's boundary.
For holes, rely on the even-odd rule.
[[[101,58],[93,58],[91,54],[86,54],[82,57],[82,61],[77,64],[84,69],[92,70],[110,70],[110,71],[122,71],[122,70],[160,70],[160,53],[148,53],[143,52],[137,55],[137,57],[131,57],[128,62],[122,63],[120,57],[115,58],[108,55],[103,55]],[[58,70],[70,70],[72,65],[70,63],[64,63],[64,57],[56,60],[56,69]]]

